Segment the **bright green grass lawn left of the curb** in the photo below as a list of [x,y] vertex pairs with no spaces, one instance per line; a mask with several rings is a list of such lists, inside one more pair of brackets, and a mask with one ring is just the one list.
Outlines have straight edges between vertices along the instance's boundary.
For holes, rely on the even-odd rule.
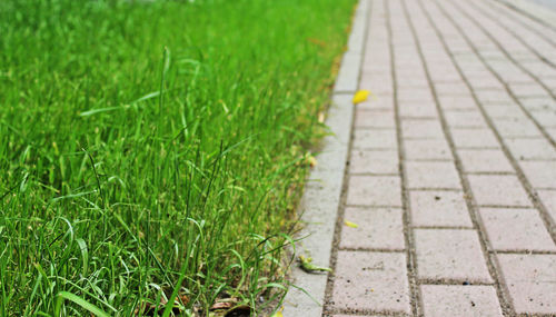
[[280,298],[354,4],[0,1],[0,316]]

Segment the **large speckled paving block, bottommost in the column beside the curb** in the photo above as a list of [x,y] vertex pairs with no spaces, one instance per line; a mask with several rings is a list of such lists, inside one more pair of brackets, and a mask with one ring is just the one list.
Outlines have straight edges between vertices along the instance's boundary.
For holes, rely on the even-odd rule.
[[409,314],[405,252],[338,251],[331,306]]

